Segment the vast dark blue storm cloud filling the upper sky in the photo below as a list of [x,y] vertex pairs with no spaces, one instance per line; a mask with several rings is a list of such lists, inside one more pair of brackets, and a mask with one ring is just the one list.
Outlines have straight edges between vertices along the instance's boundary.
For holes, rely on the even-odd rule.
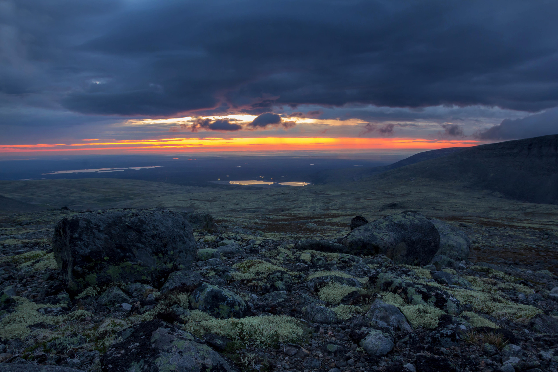
[[2,7],[0,93],[47,96],[52,107],[79,113],[558,105],[558,2],[8,0]]

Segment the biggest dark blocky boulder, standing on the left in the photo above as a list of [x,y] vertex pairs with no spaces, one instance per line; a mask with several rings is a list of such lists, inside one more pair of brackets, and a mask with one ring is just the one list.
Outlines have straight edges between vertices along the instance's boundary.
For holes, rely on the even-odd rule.
[[114,282],[159,288],[196,255],[192,228],[166,209],[102,210],[69,216],[54,228],[52,248],[70,293]]

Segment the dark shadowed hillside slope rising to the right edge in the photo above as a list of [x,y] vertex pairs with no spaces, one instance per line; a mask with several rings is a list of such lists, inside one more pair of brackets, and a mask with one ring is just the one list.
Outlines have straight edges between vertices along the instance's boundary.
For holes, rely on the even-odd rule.
[[397,168],[365,182],[412,178],[457,182],[509,199],[558,204],[558,134],[469,147]]

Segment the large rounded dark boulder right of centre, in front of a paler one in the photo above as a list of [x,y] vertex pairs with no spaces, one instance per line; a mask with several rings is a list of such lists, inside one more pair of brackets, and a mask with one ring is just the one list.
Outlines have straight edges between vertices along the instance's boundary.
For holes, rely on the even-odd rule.
[[385,254],[395,263],[426,265],[440,247],[440,234],[424,215],[406,211],[351,231],[343,240],[349,254]]

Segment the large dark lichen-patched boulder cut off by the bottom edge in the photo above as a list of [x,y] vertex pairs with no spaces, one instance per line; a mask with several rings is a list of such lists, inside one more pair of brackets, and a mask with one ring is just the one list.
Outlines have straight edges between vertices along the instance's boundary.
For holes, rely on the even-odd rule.
[[103,372],[239,372],[232,362],[194,335],[161,320],[139,323],[122,332],[101,359]]

